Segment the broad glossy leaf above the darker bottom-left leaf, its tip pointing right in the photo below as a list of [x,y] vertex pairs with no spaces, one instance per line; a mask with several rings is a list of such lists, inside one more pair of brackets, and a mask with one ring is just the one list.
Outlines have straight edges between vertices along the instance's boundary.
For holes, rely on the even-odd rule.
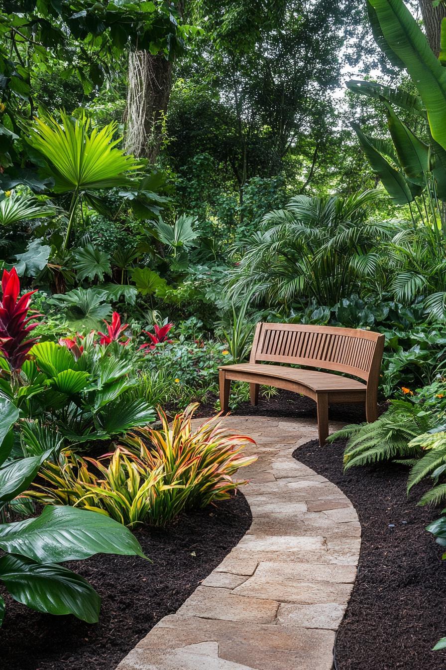
[[0,547],[39,563],[80,561],[95,553],[146,558],[125,526],[76,507],[48,506],[37,519],[1,524]]

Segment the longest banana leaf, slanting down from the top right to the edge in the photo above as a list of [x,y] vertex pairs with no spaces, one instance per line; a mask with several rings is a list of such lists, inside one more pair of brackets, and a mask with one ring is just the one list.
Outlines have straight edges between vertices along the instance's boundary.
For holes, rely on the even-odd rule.
[[433,54],[417,21],[402,0],[369,0],[382,35],[423,99],[433,138],[446,149],[446,69]]

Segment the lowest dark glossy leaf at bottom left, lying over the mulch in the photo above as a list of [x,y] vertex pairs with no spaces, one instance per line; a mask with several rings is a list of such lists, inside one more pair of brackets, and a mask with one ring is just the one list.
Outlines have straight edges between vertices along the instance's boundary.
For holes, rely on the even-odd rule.
[[14,600],[31,610],[74,614],[88,623],[98,621],[100,597],[83,577],[62,565],[41,565],[9,554],[0,557],[0,580]]

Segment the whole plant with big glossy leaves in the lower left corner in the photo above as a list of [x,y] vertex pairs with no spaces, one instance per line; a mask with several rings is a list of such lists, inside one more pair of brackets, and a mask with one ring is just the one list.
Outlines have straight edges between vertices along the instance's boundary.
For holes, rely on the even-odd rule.
[[[0,400],[0,512],[20,496],[51,451],[7,460],[13,448],[7,439],[18,412]],[[113,519],[72,507],[47,507],[37,518],[0,524],[0,582],[9,595],[37,612],[74,614],[98,621],[100,596],[63,561],[78,561],[96,553],[145,558],[136,538]],[[0,626],[5,600],[0,596]]]

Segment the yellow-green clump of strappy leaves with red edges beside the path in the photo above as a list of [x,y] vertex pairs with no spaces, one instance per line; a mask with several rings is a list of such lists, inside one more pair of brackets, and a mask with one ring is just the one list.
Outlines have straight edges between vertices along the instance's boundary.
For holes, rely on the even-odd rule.
[[102,511],[130,527],[166,525],[182,512],[229,498],[246,483],[233,474],[256,460],[241,454],[255,443],[228,433],[218,417],[193,431],[196,407],[177,414],[171,426],[160,410],[160,429],[140,428],[100,459],[62,452],[57,464],[39,471],[45,485],[35,483],[27,494],[47,505]]

